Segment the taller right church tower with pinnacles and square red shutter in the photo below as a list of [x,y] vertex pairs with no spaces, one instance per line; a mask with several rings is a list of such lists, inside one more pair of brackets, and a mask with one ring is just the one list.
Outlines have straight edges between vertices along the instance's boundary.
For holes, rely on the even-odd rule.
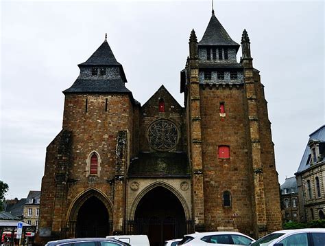
[[195,230],[256,238],[280,229],[278,177],[267,102],[244,30],[243,58],[214,10],[200,42],[192,30],[181,71]]

